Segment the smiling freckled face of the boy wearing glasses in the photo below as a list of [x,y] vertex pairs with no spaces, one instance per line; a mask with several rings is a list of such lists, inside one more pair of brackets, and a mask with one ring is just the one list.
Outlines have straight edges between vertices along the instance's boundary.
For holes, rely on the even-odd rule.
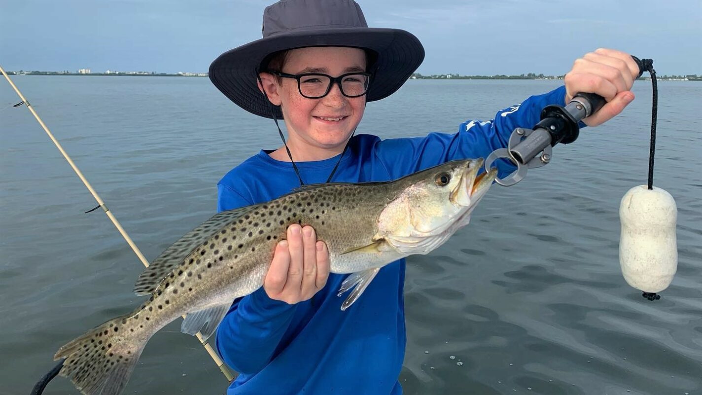
[[[347,72],[366,71],[366,53],[359,48],[333,46],[298,48],[289,51],[282,68],[280,71],[293,75],[319,72],[338,77]],[[361,122],[366,96],[343,96],[338,84],[333,84],[323,98],[305,98],[298,91],[296,79],[283,78],[278,83],[274,77],[267,76],[264,86],[270,101],[282,105],[289,145],[307,153],[343,149]]]

